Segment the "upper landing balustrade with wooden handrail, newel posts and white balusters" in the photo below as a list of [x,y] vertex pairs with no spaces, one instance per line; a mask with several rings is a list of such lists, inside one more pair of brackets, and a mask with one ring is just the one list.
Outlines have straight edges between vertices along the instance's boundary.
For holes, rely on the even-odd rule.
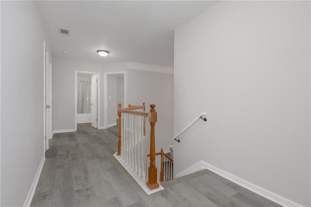
[[[150,190],[154,190],[159,188],[159,184],[157,183],[157,168],[155,167],[155,123],[157,121],[155,104],[150,105],[149,113],[144,111],[145,103],[143,103],[142,106],[132,106],[129,104],[128,108],[122,108],[122,105],[118,104],[119,140],[117,155],[122,155],[124,160],[133,170],[140,174],[141,177],[144,176],[145,179],[148,177],[146,186]],[[150,165],[148,167],[147,176],[147,169],[144,169],[147,162],[147,155],[143,144],[146,143],[145,139],[147,137],[145,136],[146,118],[148,118],[150,122]],[[122,124],[124,121],[126,124]],[[141,128],[142,125],[143,129]]]

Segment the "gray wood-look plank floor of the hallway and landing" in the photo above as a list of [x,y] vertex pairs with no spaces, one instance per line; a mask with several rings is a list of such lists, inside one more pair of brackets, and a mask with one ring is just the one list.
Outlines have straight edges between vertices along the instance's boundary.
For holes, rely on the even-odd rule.
[[117,126],[55,134],[32,207],[276,207],[208,170],[162,183],[147,195],[113,154]]

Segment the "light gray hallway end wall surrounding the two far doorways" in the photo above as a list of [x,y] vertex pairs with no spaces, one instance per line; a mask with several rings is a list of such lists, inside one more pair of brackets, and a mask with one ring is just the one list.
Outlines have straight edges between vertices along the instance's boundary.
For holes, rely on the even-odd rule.
[[100,72],[100,127],[104,126],[104,72],[125,71],[126,63],[100,64],[65,58],[53,58],[53,130],[74,129],[75,70]]

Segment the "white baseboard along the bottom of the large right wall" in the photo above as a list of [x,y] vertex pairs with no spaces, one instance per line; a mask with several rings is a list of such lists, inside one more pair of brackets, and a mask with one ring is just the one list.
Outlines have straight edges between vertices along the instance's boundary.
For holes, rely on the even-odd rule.
[[191,165],[189,168],[187,168],[186,170],[176,174],[176,178],[190,174],[190,173],[195,173],[197,171],[201,171],[201,170],[210,170],[213,173],[216,173],[248,190],[251,190],[273,202],[276,202],[277,204],[284,206],[284,207],[303,207],[303,205],[298,204],[290,199],[287,199],[281,195],[278,195],[274,192],[271,192],[270,190],[264,189],[258,185],[255,185],[247,180],[244,180],[234,174],[228,173],[222,169],[219,169],[211,164],[208,164],[204,161],[199,161],[193,165]]

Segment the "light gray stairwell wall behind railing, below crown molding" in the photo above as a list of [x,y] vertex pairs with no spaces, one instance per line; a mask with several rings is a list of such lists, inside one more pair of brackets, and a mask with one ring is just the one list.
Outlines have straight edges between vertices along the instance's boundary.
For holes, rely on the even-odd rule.
[[128,104],[146,103],[146,112],[150,104],[155,104],[157,122],[155,124],[156,152],[169,151],[173,138],[173,74],[128,69]]

